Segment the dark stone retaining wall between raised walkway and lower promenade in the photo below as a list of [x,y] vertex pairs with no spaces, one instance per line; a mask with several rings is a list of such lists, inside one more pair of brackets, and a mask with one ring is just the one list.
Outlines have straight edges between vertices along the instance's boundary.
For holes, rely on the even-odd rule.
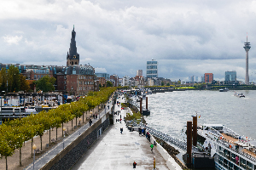
[[110,125],[109,113],[102,116],[64,150],[50,160],[41,170],[70,169]]

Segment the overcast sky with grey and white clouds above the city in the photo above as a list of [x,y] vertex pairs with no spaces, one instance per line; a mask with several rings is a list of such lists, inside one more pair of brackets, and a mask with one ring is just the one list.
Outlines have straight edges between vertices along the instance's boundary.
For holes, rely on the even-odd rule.
[[147,60],[159,77],[225,71],[245,78],[248,36],[250,82],[256,82],[256,1],[250,0],[4,0],[0,10],[3,64],[66,65],[73,25],[80,64],[96,72],[136,76]]

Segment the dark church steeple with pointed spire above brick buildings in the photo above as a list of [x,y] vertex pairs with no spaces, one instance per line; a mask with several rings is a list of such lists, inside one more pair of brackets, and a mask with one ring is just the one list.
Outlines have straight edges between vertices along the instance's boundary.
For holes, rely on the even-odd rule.
[[77,52],[77,45],[76,45],[75,38],[76,38],[76,32],[74,31],[74,26],[73,26],[69,53],[67,52],[67,66],[79,65],[79,54]]

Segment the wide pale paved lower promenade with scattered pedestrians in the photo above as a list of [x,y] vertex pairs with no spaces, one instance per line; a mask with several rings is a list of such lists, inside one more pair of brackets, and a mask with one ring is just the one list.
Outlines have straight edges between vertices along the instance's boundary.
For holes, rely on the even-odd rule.
[[[117,101],[125,102],[120,98]],[[121,111],[121,105],[114,106],[114,111]],[[154,167],[154,156],[156,159],[156,169],[167,170],[166,160],[154,147],[151,152],[149,141],[145,137],[140,137],[138,132],[130,132],[125,127],[123,117],[129,110],[122,110],[121,113],[113,117],[113,126],[110,126],[102,137],[96,140],[90,150],[78,161],[72,169],[111,169],[123,170],[133,169],[133,161],[137,162],[136,169],[150,169]],[[122,116],[122,122],[115,122]],[[124,131],[120,133],[120,127]]]

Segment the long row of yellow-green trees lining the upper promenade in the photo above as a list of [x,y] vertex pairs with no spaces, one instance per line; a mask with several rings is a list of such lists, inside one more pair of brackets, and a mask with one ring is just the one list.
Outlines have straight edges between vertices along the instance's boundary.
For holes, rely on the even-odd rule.
[[33,139],[34,136],[40,136],[42,150],[42,136],[46,130],[53,127],[58,128],[61,125],[63,127],[64,122],[73,120],[74,117],[84,116],[85,111],[90,111],[96,105],[105,103],[115,90],[116,88],[101,88],[99,92],[91,92],[87,97],[79,99],[78,102],[60,105],[55,110],[41,111],[36,115],[32,114],[22,119],[3,123],[0,126],[0,154],[6,158],[6,168],[7,157],[12,156],[16,149],[20,149],[25,141]]

